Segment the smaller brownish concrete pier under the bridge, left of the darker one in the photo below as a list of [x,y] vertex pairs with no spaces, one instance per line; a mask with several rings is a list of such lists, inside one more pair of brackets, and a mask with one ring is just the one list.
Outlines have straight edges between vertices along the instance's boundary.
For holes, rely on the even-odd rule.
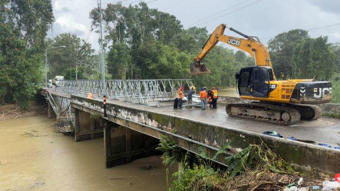
[[103,137],[100,118],[91,117],[91,113],[72,108],[74,113],[74,140],[84,141]]

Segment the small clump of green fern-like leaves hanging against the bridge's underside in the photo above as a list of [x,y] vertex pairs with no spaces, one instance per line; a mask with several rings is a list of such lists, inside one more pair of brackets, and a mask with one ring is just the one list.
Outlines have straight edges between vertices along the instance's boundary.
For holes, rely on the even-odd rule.
[[182,148],[176,145],[176,143],[168,136],[161,135],[162,140],[159,141],[156,150],[163,152],[162,159],[164,165],[172,165],[176,162],[180,162],[184,159]]

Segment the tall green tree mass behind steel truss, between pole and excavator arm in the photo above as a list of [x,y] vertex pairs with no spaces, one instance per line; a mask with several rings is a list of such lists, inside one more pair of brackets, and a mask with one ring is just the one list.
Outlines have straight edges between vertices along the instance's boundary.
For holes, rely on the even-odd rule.
[[[90,12],[92,28],[99,26],[98,11]],[[190,76],[190,63],[209,37],[206,28],[184,29],[175,16],[143,2],[129,7],[108,4],[103,13],[104,47],[109,48],[108,72],[113,79],[192,78],[196,86],[223,88],[235,85],[234,74],[241,67],[253,65],[244,52],[217,46],[204,58],[212,73]]]

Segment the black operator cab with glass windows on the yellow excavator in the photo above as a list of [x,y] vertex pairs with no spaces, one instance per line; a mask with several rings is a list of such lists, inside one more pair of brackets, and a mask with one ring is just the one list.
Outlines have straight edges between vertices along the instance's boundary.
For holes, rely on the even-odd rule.
[[268,68],[252,66],[242,68],[238,76],[240,96],[268,97],[270,90]]

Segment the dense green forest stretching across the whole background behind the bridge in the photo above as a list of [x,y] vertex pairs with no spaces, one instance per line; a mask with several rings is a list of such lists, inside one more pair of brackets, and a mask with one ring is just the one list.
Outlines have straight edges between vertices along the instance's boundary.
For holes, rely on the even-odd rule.
[[[141,2],[124,7],[108,4],[103,12],[107,79],[193,79],[196,86],[235,85],[235,73],[254,65],[243,51],[216,46],[204,58],[211,74],[190,76],[189,68],[209,37],[206,28],[185,29],[173,15]],[[90,11],[91,28],[98,32],[99,9]],[[76,34],[46,38],[54,21],[51,0],[0,1],[0,104],[28,107],[45,79],[45,50],[49,49],[48,78],[100,79],[99,56]],[[209,29],[212,31],[213,29]],[[235,34],[236,35],[236,34]],[[292,65],[291,78],[331,80],[339,87],[340,44],[327,36],[312,38],[301,29],[277,34],[268,43],[274,70]],[[338,88],[339,89],[339,88]],[[335,95],[335,100],[339,94]]]

